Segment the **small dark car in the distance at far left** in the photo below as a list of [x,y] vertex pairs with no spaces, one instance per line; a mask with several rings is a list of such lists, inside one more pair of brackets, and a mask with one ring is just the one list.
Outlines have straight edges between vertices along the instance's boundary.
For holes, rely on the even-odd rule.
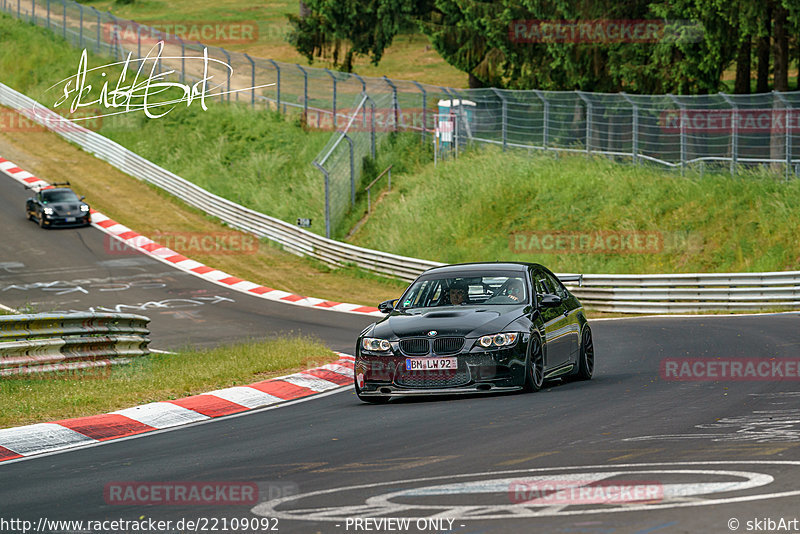
[[25,214],[42,228],[88,226],[92,222],[89,205],[70,189],[69,184],[53,184],[35,190],[25,202]]

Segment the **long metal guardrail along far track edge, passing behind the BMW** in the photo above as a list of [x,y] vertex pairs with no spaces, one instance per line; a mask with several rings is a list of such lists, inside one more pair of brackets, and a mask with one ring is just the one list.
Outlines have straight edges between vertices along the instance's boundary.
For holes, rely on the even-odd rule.
[[[327,265],[356,265],[377,274],[413,280],[441,263],[356,247],[258,213],[159,167],[130,150],[80,126],[0,83],[0,104],[20,110],[121,171],[181,198],[226,224],[280,243],[286,250]],[[31,110],[37,113],[32,116]],[[732,274],[587,274],[568,285],[582,302],[609,312],[683,313],[715,310],[800,308],[800,271]]]

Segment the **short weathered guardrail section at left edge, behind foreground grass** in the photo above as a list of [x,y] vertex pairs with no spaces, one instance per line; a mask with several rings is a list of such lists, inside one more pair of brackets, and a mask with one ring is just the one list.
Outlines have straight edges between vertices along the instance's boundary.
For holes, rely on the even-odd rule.
[[128,363],[149,353],[149,322],[119,313],[0,316],[0,377]]

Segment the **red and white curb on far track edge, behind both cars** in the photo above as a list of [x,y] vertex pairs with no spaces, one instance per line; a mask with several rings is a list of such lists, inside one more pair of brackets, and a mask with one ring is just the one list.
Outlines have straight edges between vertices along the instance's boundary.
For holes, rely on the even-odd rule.
[[[0,157],[0,171],[3,171],[9,177],[17,180],[21,184],[29,187],[45,187],[49,185],[46,181],[37,178],[28,171],[19,168],[15,163]],[[383,314],[378,311],[378,308],[373,306],[361,306],[358,304],[348,304],[346,302],[335,302],[315,297],[305,297],[302,295],[295,295],[279,289],[262,286],[253,282],[248,282],[241,278],[231,276],[230,274],[203,265],[198,261],[183,256],[167,247],[159,245],[152,239],[145,237],[137,232],[134,232],[127,226],[124,226],[117,221],[106,217],[102,213],[91,210],[92,226],[105,232],[109,236],[117,239],[127,246],[157,259],[168,265],[185,271],[194,276],[198,276],[208,282],[234,289],[241,293],[253,295],[256,297],[272,300],[276,302],[283,302],[285,304],[294,304],[295,306],[305,306],[309,308],[316,308],[320,310],[330,310],[345,313],[357,313],[361,315],[373,315],[376,317],[383,317]]]

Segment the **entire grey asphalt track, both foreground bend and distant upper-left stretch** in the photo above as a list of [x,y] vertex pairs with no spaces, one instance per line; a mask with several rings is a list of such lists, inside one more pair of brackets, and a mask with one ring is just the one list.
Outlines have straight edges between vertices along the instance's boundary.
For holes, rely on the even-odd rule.
[[[0,198],[0,302],[6,305],[85,310],[217,299],[146,313],[159,348],[294,331],[351,350],[358,330],[370,322],[250,298],[154,260],[109,255],[103,234],[91,228],[42,231],[24,220],[25,192],[10,180],[0,180]],[[53,281],[81,283],[47,286]],[[124,290],[101,291],[125,284]],[[187,309],[192,313],[183,315]],[[284,533],[800,530],[796,524],[767,529],[768,520],[777,526],[781,519],[800,519],[800,382],[675,381],[662,367],[681,358],[797,362],[800,314],[640,318],[597,321],[592,328],[597,367],[590,382],[555,381],[535,394],[404,399],[385,406],[362,404],[344,389],[5,462],[0,515],[32,521],[31,528],[43,524],[40,532],[87,531],[40,520],[117,519],[172,521],[151,532],[268,532],[275,526]],[[574,499],[541,491],[543,480],[562,488],[592,484],[655,493],[647,500],[598,502],[589,494]],[[114,489],[134,482],[150,483],[148,488],[233,483],[257,492],[235,505],[220,504],[223,497],[153,504],[155,497],[148,501],[141,494],[136,504],[116,504]],[[261,518],[266,522],[250,524],[258,528],[232,528],[234,521]],[[377,522],[387,518],[410,523]],[[200,525],[181,529],[180,520]],[[109,524],[94,531],[135,530]]]

